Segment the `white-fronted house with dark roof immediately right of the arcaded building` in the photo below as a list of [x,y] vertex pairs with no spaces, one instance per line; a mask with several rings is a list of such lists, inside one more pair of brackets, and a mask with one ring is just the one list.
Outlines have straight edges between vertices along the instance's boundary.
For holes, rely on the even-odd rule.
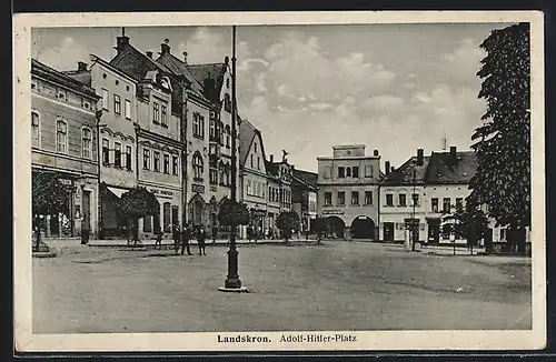
[[385,162],[385,178],[380,183],[380,232],[379,240],[404,241],[408,238],[411,222],[416,240],[425,240],[426,234],[426,201],[425,182],[430,158],[418,149],[397,169],[391,169]]

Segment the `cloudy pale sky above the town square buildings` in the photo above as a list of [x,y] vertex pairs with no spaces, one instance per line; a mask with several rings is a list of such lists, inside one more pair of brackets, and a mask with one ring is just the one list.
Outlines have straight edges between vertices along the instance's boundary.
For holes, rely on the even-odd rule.
[[[381,162],[404,163],[441,140],[470,149],[485,102],[476,73],[479,48],[507,24],[259,26],[237,28],[240,117],[257,127],[267,158],[288,152],[298,169],[317,170],[332,145],[366,144]],[[109,61],[121,28],[43,28],[32,31],[32,57],[58,70],[96,54]],[[141,51],[171,52],[189,63],[231,56],[230,27],[126,28]]]

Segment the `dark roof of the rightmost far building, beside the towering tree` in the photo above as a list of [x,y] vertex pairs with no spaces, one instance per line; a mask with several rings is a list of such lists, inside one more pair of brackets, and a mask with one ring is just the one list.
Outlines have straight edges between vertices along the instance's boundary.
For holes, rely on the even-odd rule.
[[474,151],[456,152],[454,160],[450,152],[433,152],[427,170],[427,183],[466,184],[477,170],[477,157]]

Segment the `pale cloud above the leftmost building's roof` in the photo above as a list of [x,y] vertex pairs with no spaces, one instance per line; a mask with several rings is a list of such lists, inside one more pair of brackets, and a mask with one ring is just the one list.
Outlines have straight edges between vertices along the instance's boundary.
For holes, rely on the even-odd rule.
[[38,47],[36,58],[57,70],[77,69],[77,62],[90,62],[90,52],[72,37],[63,38],[54,47]]

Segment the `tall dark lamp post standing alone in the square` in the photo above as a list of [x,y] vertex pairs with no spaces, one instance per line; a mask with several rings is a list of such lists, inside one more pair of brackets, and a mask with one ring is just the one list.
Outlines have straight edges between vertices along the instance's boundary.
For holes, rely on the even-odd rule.
[[[232,26],[232,56],[231,56],[231,192],[230,199],[234,204],[237,201],[237,145],[236,145],[236,134],[237,134],[237,102],[236,102],[236,26]],[[235,210],[232,211],[235,212]],[[246,292],[247,289],[241,286],[241,280],[238,274],[238,250],[236,247],[236,220],[230,218],[231,230],[230,230],[230,245],[228,250],[228,275],[224,282],[224,288],[218,290],[222,292]]]

